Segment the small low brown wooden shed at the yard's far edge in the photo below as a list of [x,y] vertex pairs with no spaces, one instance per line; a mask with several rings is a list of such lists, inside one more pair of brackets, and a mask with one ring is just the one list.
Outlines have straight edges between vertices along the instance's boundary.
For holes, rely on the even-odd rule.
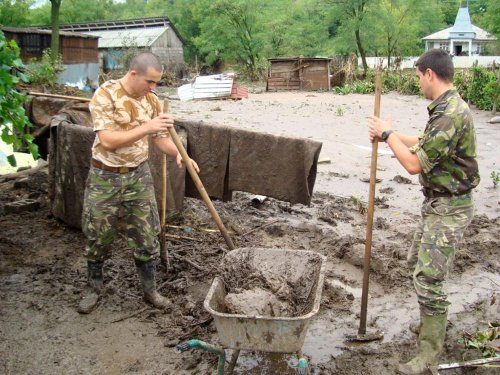
[[268,61],[267,91],[330,90],[328,57],[277,57]]

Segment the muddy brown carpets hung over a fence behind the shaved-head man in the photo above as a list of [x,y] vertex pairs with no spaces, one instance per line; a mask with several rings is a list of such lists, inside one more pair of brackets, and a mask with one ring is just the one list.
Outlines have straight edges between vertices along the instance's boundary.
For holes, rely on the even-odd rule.
[[[75,124],[75,122],[83,123]],[[55,217],[80,227],[85,182],[95,134],[85,105],[66,107],[52,118],[49,196]],[[176,120],[200,178],[213,198],[228,200],[232,191],[267,195],[291,203],[309,204],[316,179],[321,143],[256,133],[203,122]],[[150,148],[149,165],[160,207],[162,156]],[[187,196],[198,197],[186,169],[168,163],[167,209],[181,210]]]

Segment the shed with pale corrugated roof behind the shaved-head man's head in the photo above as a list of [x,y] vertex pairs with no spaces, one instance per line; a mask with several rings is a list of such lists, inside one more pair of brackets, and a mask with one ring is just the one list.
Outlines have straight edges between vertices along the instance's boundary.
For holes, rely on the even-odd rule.
[[61,30],[99,37],[99,54],[105,71],[124,68],[122,56],[130,47],[154,53],[171,70],[177,71],[184,65],[184,42],[165,16],[65,24]]

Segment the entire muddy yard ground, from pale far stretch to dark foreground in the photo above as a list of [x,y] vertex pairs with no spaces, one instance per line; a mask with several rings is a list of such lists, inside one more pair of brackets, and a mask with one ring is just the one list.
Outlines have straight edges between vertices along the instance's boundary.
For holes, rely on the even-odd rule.
[[[382,341],[346,342],[357,333],[366,238],[367,183],[371,145],[366,117],[370,95],[251,93],[241,101],[172,100],[178,118],[323,142],[310,207],[236,193],[215,202],[237,247],[306,249],[327,257],[321,308],[302,347],[311,374],[393,374],[415,351],[409,323],[418,306],[407,277],[406,251],[422,200],[385,144],[379,145],[368,331]],[[382,116],[395,128],[418,133],[427,101],[384,94]],[[456,254],[447,283],[452,306],[441,363],[481,358],[461,338],[500,320],[499,124],[474,110],[482,182],[476,217]],[[266,157],[262,155],[262,157]],[[262,171],[265,178],[266,171]],[[172,299],[168,312],[142,301],[131,254],[119,241],[105,265],[105,296],[92,314],[76,312],[86,281],[84,237],[51,216],[47,171],[16,179],[0,177],[0,373],[2,374],[214,374],[217,357],[175,345],[190,338],[217,344],[218,335],[203,301],[227,252],[201,201],[186,199],[181,217],[169,222],[170,268],[158,285]],[[33,211],[10,213],[6,204],[33,199]],[[177,237],[175,237],[177,236]],[[181,238],[179,238],[181,237]],[[498,346],[498,342],[495,344]],[[231,350],[227,350],[230,358]],[[235,374],[294,374],[294,355],[242,351]],[[459,369],[442,374],[493,374],[498,368]]]

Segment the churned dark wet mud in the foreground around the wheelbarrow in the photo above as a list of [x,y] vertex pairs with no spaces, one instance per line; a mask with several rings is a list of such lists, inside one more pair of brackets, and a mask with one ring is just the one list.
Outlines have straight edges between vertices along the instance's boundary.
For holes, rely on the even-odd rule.
[[[215,373],[216,356],[174,350],[190,338],[217,344],[203,302],[228,249],[212,231],[215,225],[203,203],[188,199],[168,231],[175,238],[168,242],[170,268],[160,267],[158,285],[174,301],[170,312],[144,304],[131,254],[120,241],[105,264],[100,306],[82,316],[75,307],[85,285],[84,238],[51,217],[46,179],[42,169],[22,184],[0,184],[2,205],[28,197],[40,202],[36,211],[0,218],[2,373]],[[399,219],[396,228],[380,226],[374,233],[368,329],[381,329],[385,336],[360,345],[346,342],[359,323],[365,238],[359,202],[317,193],[310,207],[273,199],[256,205],[251,195],[237,193],[232,202],[215,205],[237,247],[312,249],[327,257],[320,312],[302,347],[312,374],[390,374],[414,352],[408,325],[417,317],[417,304],[405,252],[415,218]],[[448,283],[452,309],[444,360],[479,355],[457,340],[462,331],[481,329],[495,318],[499,239],[498,218],[476,216]],[[296,364],[294,354],[242,351],[235,373],[293,374]],[[455,373],[468,373],[460,371]]]

